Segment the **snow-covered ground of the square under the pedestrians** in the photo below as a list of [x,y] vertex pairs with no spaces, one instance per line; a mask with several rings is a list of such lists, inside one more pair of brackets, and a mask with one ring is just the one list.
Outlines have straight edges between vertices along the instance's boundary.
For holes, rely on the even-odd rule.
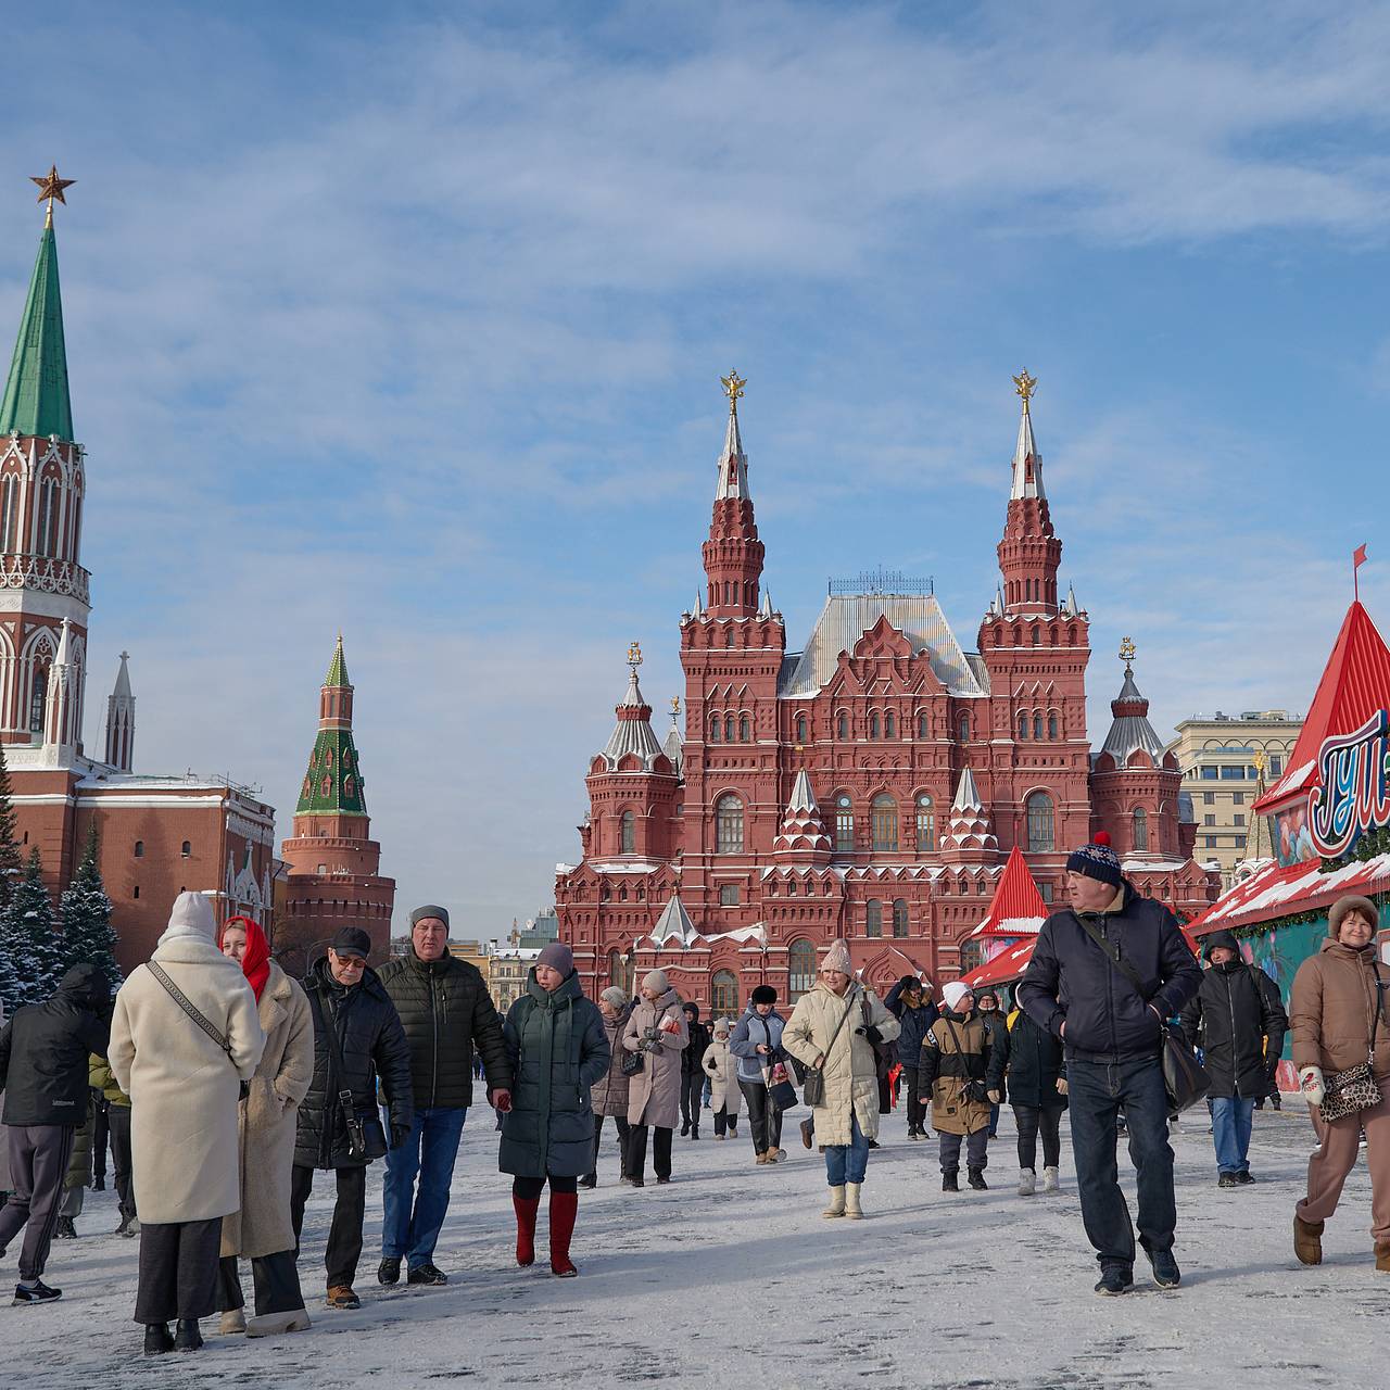
[[[88,1194],[82,1238],[54,1244],[42,1309],[0,1307],[0,1383],[46,1387],[527,1386],[680,1382],[684,1387],[1383,1386],[1390,1276],[1371,1252],[1364,1163],[1304,1269],[1290,1227],[1312,1131],[1302,1106],[1255,1116],[1257,1186],[1218,1191],[1205,1111],[1175,1137],[1183,1287],[1141,1279],[1123,1298],[1091,1293],[1063,1144],[1063,1191],[1015,1194],[1012,1120],[991,1145],[990,1193],[941,1193],[935,1144],[909,1144],[902,1111],[872,1156],[865,1222],[820,1219],[824,1168],[788,1123],[791,1158],[755,1168],[746,1134],[676,1140],[676,1182],[619,1187],[605,1144],[602,1186],[581,1193],[580,1279],[513,1261],[510,1180],[496,1172],[486,1111],[470,1116],[438,1290],[375,1282],[379,1175],[368,1187],[359,1312],[320,1307],[331,1179],[321,1176],[303,1258],[311,1332],[247,1343],[204,1323],[207,1350],[145,1361],[131,1322],[136,1244],[110,1234],[113,1194]],[[1297,1112],[1294,1112],[1297,1111]],[[803,1113],[803,1112],[801,1112]],[[795,1116],[792,1116],[795,1119]],[[1127,1180],[1133,1207],[1133,1182]],[[542,1250],[543,1250],[542,1204]],[[1147,1273],[1140,1261],[1138,1273]],[[0,1266],[14,1277],[14,1257]],[[249,1270],[243,1282],[250,1287]]]

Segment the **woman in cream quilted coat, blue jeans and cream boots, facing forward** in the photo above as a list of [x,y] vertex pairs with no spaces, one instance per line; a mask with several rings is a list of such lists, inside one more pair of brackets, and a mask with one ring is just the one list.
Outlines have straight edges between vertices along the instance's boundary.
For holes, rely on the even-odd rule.
[[[853,979],[849,948],[835,941],[820,963],[820,979],[792,1009],[783,1048],[821,1069],[824,1097],[815,1108],[816,1141],[826,1154],[830,1207],[824,1216],[863,1216],[859,1188],[869,1165],[869,1140],[878,1134],[876,1042],[898,1036],[898,1020]],[[844,1019],[844,1024],[841,1024]]]

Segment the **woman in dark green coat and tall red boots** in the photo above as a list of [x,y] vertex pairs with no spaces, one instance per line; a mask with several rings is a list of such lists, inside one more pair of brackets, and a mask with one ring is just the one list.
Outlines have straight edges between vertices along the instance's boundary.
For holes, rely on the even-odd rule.
[[502,1040],[514,1080],[498,1166],[513,1175],[517,1264],[535,1264],[535,1219],[549,1182],[550,1273],[573,1279],[578,1273],[570,1262],[578,1179],[594,1159],[589,1087],[603,1079],[612,1051],[603,1016],[584,997],[567,945],[552,941],[541,952],[525,994],[507,1011]]

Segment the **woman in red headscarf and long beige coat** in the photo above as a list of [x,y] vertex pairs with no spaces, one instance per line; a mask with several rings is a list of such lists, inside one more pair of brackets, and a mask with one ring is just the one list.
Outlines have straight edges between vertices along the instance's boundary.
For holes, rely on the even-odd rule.
[[[256,994],[265,1052],[240,1109],[242,1209],[222,1218],[218,1308],[222,1332],[265,1337],[309,1326],[295,1265],[289,1215],[295,1163],[295,1118],[314,1074],[314,1022],[304,991],[271,959],[260,924],[228,917],[218,945],[240,962]],[[252,1262],[256,1316],[247,1319],[236,1273],[238,1257]]]

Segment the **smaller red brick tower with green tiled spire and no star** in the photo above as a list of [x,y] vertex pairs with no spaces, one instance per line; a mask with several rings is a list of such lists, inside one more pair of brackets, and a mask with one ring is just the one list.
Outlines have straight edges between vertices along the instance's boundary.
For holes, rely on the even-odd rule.
[[370,838],[352,701],[339,635],[318,696],[318,737],[295,808],[295,834],[281,847],[288,877],[277,954],[285,948],[321,954],[322,944],[345,926],[371,935],[373,960],[385,959],[389,949],[396,881],[378,873],[381,845]]

